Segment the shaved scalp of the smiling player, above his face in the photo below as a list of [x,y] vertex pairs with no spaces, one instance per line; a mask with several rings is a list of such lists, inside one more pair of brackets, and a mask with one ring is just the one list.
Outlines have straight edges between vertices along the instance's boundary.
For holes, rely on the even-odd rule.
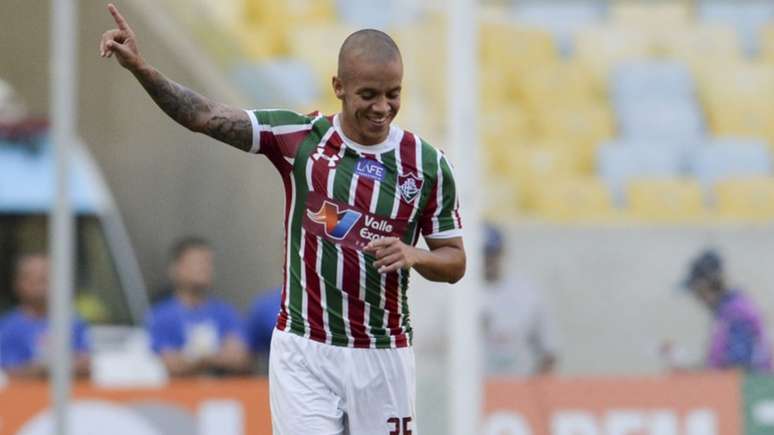
[[390,35],[376,29],[363,29],[349,35],[339,50],[340,78],[351,77],[358,62],[385,64],[401,61],[400,50]]

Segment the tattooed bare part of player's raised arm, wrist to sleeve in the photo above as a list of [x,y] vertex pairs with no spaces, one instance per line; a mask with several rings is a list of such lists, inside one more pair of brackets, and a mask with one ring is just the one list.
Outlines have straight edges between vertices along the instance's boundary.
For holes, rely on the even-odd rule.
[[153,68],[137,71],[135,76],[161,110],[180,125],[243,151],[250,150],[252,125],[243,110],[213,102]]

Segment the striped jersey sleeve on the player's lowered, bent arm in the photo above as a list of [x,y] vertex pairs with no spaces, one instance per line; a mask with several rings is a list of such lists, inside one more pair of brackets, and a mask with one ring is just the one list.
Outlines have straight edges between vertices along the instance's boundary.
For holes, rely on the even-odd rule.
[[449,239],[462,236],[460,202],[454,174],[446,156],[439,153],[438,173],[420,222],[427,239]]

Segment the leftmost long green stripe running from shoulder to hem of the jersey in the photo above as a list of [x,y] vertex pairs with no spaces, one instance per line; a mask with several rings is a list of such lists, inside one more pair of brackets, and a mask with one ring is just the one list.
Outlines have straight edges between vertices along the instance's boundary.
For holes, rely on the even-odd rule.
[[[327,124],[327,127],[326,125]],[[314,128],[310,130],[309,135],[304,138],[296,153],[295,163],[293,165],[293,181],[296,186],[296,197],[293,203],[293,215],[290,217],[289,228],[290,242],[287,249],[290,252],[290,264],[288,264],[288,273],[290,274],[290,288],[288,291],[288,301],[290,310],[290,331],[303,335],[306,327],[304,319],[304,292],[301,287],[301,256],[298,252],[301,249],[301,228],[303,227],[304,213],[306,212],[306,196],[309,193],[306,185],[306,162],[309,156],[315,151],[317,144],[330,128],[324,118],[318,121]]]

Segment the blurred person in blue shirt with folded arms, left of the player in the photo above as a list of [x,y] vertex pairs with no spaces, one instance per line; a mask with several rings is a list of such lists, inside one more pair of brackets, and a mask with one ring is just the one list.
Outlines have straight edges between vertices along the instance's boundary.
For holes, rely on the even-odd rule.
[[209,243],[197,237],[178,241],[169,275],[174,294],[153,306],[147,328],[153,351],[170,375],[246,372],[250,360],[237,311],[208,294],[213,279]]

